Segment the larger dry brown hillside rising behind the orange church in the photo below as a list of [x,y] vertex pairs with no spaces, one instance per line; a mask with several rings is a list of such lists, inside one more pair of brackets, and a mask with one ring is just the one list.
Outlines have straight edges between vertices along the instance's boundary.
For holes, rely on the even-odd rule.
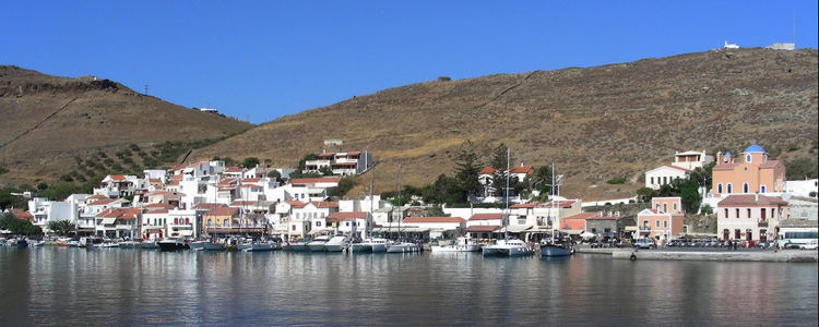
[[[420,185],[452,172],[464,140],[483,155],[503,142],[531,165],[555,162],[563,194],[629,195],[648,168],[675,150],[750,143],[812,156],[817,137],[817,50],[712,50],[589,69],[499,74],[413,84],[278,118],[195,150],[295,165],[323,140],[369,149],[381,161],[377,191]],[[627,177],[630,182],[605,181]],[[597,185],[597,186],[591,186]],[[590,187],[591,186],[591,187]]]

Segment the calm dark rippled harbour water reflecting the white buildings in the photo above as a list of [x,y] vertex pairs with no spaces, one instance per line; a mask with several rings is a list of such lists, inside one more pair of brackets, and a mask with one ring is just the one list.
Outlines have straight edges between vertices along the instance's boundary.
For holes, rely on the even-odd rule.
[[0,247],[0,325],[817,325],[817,264]]

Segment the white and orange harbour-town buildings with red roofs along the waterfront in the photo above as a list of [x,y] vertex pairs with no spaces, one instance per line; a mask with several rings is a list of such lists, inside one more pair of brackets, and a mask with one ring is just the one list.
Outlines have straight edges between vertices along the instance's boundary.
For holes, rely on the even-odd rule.
[[[675,179],[688,178],[692,169],[712,161],[714,157],[704,152],[677,153],[670,165],[645,173],[645,185],[657,189]],[[424,238],[466,234],[476,239],[502,233],[532,241],[556,232],[585,232],[663,240],[686,232],[679,197],[654,197],[651,206],[636,216],[583,213],[581,199],[558,196],[544,203],[515,198],[508,210],[444,207],[448,217],[419,217],[416,208],[392,206],[378,195],[329,201],[328,194],[339,185],[341,175],[361,173],[371,162],[366,152],[323,153],[306,162],[305,172],[328,168],[336,175],[288,179],[294,170],[275,169],[286,183],[268,177],[272,168],[229,168],[218,160],[170,171],[145,170],[144,177],[108,175],[93,194],[73,194],[59,202],[32,198],[26,216],[46,232],[49,232],[48,221],[70,220],[80,233],[123,239],[204,235],[298,239],[318,233],[372,231]],[[520,179],[533,172],[531,166],[522,164],[510,169],[510,174]],[[485,195],[492,192],[494,173],[491,169],[480,171]],[[717,237],[768,240],[781,232],[782,222],[794,213],[798,215],[793,218],[812,221],[815,227],[816,179],[786,182],[784,177],[783,165],[769,160],[759,146],[748,147],[737,158],[717,153],[713,186],[703,198],[703,204],[717,215]]]

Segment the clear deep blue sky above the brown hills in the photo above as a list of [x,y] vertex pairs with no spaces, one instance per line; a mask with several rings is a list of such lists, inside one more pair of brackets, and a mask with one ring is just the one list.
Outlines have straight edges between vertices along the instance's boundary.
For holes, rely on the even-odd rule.
[[0,2],[0,64],[147,84],[253,123],[438,76],[764,47],[794,29],[816,49],[819,28],[816,0]]

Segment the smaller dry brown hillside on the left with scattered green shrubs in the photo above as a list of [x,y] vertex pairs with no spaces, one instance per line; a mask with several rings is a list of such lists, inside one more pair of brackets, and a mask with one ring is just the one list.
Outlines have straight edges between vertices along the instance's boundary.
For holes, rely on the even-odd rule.
[[[176,106],[92,76],[0,66],[0,183],[54,181],[73,157],[129,144],[217,138],[252,124]],[[71,159],[71,160],[68,160]]]

